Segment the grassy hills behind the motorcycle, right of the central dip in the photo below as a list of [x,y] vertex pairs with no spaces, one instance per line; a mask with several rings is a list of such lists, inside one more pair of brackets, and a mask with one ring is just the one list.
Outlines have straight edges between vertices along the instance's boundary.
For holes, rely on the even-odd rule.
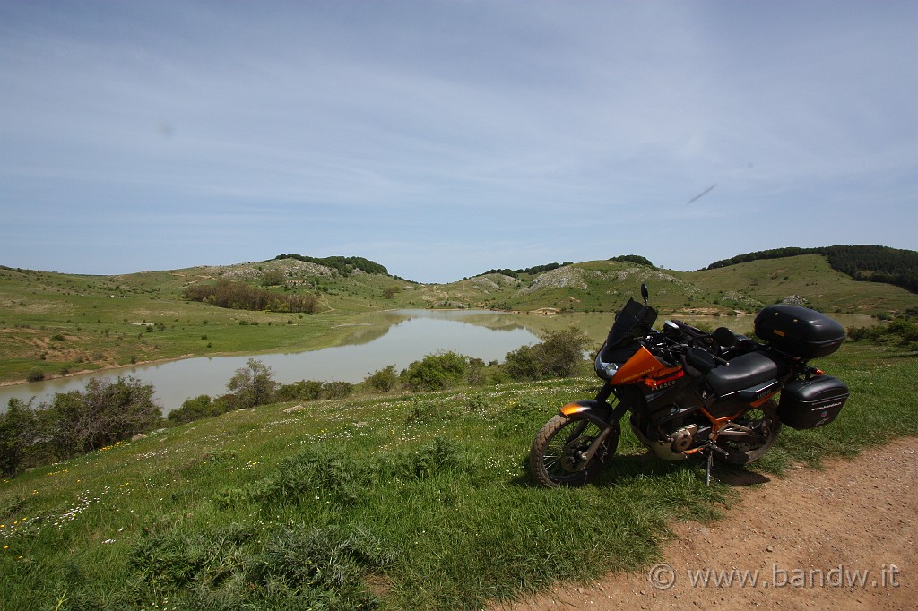
[[614,311],[647,283],[666,314],[756,312],[799,295],[816,309],[889,314],[918,305],[918,295],[883,283],[857,282],[835,272],[822,255],[750,261],[699,272],[675,272],[621,261],[587,261],[519,279],[487,274],[420,289],[442,303],[532,311]]

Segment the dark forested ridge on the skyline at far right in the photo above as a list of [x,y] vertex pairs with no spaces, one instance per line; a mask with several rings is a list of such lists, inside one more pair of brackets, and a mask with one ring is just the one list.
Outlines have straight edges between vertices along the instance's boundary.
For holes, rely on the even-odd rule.
[[730,259],[715,261],[707,269],[715,270],[748,261],[783,259],[806,254],[823,255],[832,269],[845,273],[854,280],[893,284],[912,293],[918,293],[918,251],[872,244],[824,246],[812,249],[789,247],[757,250]]

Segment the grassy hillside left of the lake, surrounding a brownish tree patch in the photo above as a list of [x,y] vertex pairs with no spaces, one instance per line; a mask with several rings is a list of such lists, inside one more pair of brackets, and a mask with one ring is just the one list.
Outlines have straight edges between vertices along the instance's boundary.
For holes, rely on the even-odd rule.
[[[349,317],[398,305],[389,287],[412,286],[386,275],[343,277],[299,261],[267,261],[119,276],[0,269],[0,382],[93,371],[187,355],[334,345]],[[314,315],[229,310],[182,298],[190,283],[220,278],[257,283],[285,269],[296,291],[318,291]],[[307,272],[311,275],[307,275]],[[282,287],[274,290],[283,291]]]

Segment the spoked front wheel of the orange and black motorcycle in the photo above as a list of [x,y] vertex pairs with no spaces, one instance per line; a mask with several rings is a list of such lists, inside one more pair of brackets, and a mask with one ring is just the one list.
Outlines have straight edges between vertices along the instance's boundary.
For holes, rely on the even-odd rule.
[[581,486],[598,472],[619,446],[619,428],[613,426],[589,461],[582,456],[603,429],[584,417],[558,415],[545,423],[532,441],[529,466],[536,482],[554,488]]

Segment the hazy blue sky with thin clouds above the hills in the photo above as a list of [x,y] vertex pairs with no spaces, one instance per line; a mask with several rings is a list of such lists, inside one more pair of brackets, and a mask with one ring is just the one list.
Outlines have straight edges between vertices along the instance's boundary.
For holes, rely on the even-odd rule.
[[918,249],[918,3],[0,0],[0,214],[74,273]]

